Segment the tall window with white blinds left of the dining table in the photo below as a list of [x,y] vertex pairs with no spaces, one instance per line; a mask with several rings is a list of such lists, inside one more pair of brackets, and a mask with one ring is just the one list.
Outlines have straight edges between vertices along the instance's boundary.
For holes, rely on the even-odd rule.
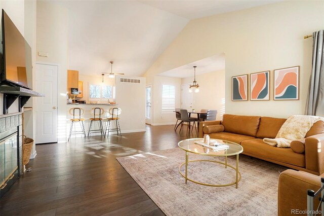
[[162,85],[162,113],[172,113],[176,109],[176,86]]

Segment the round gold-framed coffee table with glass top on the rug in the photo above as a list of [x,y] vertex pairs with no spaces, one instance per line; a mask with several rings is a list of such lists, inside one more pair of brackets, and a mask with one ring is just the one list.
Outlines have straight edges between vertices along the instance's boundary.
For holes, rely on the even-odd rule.
[[[190,182],[199,184],[199,185],[205,185],[205,186],[211,186],[211,187],[225,187],[225,186],[231,186],[234,185],[237,188],[237,184],[241,179],[241,173],[238,171],[238,155],[243,152],[243,147],[238,145],[235,142],[227,141],[227,140],[222,140],[222,139],[211,139],[211,140],[216,140],[218,143],[225,144],[229,146],[228,149],[225,150],[218,150],[214,151],[212,149],[200,146],[195,143],[195,141],[204,141],[203,138],[192,138],[192,139],[184,139],[180,142],[178,142],[178,146],[186,152],[186,162],[182,163],[179,166],[179,173],[185,178],[185,183],[187,184],[187,180]],[[213,161],[213,160],[188,160],[189,152],[197,155],[207,155],[207,156],[223,156],[225,157],[225,163],[219,162],[219,161]],[[236,167],[230,166],[227,164],[227,156],[232,156],[236,155]],[[197,182],[193,179],[188,178],[188,163],[192,162],[201,162],[201,161],[207,161],[207,162],[213,162],[213,163],[219,163],[225,165],[225,168],[230,167],[236,171],[236,177],[235,177],[235,182],[226,184],[226,185],[211,185],[211,184],[205,184],[201,182]],[[181,172],[181,167],[185,165],[185,174]]]

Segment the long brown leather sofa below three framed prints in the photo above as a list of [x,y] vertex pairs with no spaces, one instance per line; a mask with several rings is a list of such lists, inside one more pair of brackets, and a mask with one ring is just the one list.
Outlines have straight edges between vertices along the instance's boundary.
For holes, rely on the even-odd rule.
[[315,175],[322,174],[324,122],[314,123],[305,138],[294,140],[291,148],[277,148],[264,143],[263,138],[275,138],[285,121],[280,118],[225,114],[222,121],[200,122],[199,137],[209,134],[211,138],[233,141],[243,147],[242,154]]

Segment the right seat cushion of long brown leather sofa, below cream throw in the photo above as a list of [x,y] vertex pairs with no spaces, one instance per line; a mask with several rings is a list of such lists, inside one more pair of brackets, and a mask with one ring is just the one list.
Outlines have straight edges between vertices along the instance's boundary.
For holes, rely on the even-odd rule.
[[291,148],[277,148],[263,142],[260,138],[241,142],[243,154],[250,153],[263,158],[269,158],[283,163],[305,167],[305,154],[295,153]]

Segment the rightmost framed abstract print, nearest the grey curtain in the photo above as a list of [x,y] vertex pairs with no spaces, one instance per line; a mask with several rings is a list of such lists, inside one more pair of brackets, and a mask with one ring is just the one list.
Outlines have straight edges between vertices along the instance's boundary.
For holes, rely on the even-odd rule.
[[299,100],[299,66],[274,70],[273,99]]

